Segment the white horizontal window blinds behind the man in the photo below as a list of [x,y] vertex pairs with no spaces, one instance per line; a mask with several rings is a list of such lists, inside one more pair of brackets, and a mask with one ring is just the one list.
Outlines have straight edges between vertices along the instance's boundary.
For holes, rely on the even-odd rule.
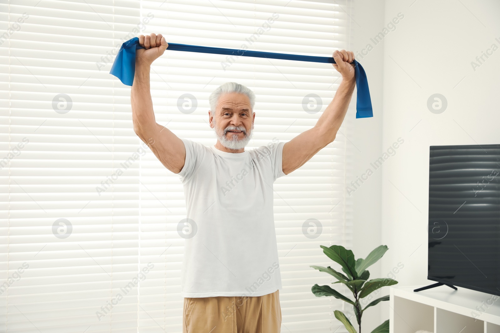
[[[347,47],[345,10],[320,0],[0,3],[0,331],[181,332],[184,195],[133,132],[130,87],[108,73],[123,41],[154,32],[331,56]],[[251,149],[312,127],[340,78],[330,64],[167,50],[151,67],[156,121],[213,145],[207,98],[227,81],[257,96]],[[282,332],[344,332],[332,315],[341,301],[310,291],[333,281],[309,265],[332,265],[319,245],[351,245],[346,157],[338,134],[274,183]]]

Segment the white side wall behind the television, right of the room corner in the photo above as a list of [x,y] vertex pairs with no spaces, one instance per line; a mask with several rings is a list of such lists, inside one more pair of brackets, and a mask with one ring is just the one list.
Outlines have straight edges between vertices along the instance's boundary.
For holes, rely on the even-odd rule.
[[[500,49],[471,66],[493,43],[500,47],[500,1],[385,0],[384,22],[398,12],[404,18],[383,39],[381,146],[404,143],[381,170],[381,244],[390,249],[381,271],[401,262],[399,286],[428,285],[429,146],[500,143]],[[434,93],[447,100],[440,114],[426,105]]]

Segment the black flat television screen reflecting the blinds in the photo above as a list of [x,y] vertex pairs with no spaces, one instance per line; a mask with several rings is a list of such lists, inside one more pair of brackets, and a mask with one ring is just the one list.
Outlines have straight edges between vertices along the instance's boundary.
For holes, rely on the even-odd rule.
[[430,146],[427,278],[500,296],[500,144]]

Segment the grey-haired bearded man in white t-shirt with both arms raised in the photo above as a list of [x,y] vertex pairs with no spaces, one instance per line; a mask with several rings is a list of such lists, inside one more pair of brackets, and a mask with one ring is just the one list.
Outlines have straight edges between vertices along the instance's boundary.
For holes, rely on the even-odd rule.
[[[181,270],[183,333],[279,333],[281,276],[272,184],[335,139],[355,86],[354,55],[335,51],[342,81],[314,127],[288,142],[245,150],[253,134],[254,93],[226,82],[209,96],[208,120],[217,142],[178,138],[156,123],[149,91],[151,63],[168,44],[140,35],[130,100],[134,132],[179,175],[187,218],[196,234],[185,240]],[[191,226],[193,227],[193,226]]]

